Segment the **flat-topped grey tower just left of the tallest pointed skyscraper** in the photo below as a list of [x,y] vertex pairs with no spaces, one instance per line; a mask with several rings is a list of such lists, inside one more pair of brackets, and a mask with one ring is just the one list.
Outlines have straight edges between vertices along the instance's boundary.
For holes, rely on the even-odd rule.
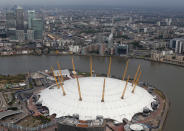
[[7,28],[16,27],[15,13],[13,11],[6,12],[6,26]]

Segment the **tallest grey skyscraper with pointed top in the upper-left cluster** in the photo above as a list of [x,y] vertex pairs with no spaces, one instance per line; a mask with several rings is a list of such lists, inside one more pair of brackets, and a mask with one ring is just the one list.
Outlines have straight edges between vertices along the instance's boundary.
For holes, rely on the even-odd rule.
[[16,27],[17,30],[24,30],[24,10],[21,7],[16,9]]

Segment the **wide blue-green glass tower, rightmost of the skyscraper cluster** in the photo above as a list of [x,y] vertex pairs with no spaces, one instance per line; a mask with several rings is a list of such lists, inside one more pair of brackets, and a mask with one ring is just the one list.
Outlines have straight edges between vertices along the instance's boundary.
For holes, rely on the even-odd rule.
[[34,39],[42,40],[43,38],[43,20],[33,19],[32,20],[32,30],[34,30]]

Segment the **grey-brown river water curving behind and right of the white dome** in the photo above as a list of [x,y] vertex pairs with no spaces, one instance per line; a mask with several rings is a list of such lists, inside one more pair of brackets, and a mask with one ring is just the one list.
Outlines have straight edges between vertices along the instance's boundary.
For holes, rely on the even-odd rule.
[[[18,74],[56,68],[59,61],[62,69],[71,69],[71,56],[11,56],[0,57],[0,74]],[[89,72],[89,58],[75,56],[76,69]],[[107,73],[109,59],[93,57],[95,72]],[[111,74],[121,77],[126,59],[113,57]],[[141,81],[146,81],[162,90],[170,99],[171,108],[164,131],[182,131],[184,121],[184,68],[155,63],[139,59],[130,59],[127,73],[134,76],[137,66],[141,64],[143,75]]]

